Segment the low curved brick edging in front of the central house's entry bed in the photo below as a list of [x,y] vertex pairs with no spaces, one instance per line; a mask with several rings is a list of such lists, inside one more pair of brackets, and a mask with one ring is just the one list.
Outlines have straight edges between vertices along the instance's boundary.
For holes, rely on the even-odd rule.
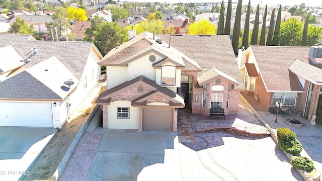
[[213,132],[225,132],[225,133],[236,134],[239,136],[249,136],[249,137],[266,137],[271,135],[270,133],[250,133],[233,127],[216,127],[211,129],[195,131],[195,133],[213,133]]

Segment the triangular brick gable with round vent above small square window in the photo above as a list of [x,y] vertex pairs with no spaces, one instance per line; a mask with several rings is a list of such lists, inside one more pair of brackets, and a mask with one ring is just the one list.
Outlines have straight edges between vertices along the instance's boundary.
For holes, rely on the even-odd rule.
[[111,102],[113,102],[113,101],[132,101],[135,98],[138,98],[138,97],[145,95],[145,94],[152,91],[152,89],[150,89],[149,87],[143,86],[144,90],[142,92],[139,92],[137,89],[137,87],[139,87],[139,86],[143,86],[143,85],[142,84],[136,85],[132,88],[129,88],[129,89],[121,92],[120,94],[118,94],[116,96],[113,96],[111,98]]

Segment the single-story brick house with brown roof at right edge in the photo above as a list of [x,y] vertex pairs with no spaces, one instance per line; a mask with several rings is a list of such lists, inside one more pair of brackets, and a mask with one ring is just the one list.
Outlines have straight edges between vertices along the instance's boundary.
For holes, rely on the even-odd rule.
[[[248,96],[265,108],[282,101],[302,116],[322,118],[322,47],[250,46],[238,66]],[[285,101],[286,100],[286,101]]]

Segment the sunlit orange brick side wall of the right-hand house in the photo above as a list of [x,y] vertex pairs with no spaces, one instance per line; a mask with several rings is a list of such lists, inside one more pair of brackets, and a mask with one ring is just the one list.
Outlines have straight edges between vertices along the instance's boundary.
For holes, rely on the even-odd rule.
[[[258,75],[255,83],[255,93],[258,94],[258,101],[266,110],[268,110],[269,106],[272,106],[274,93],[266,92],[266,88],[262,79],[261,74]],[[254,94],[255,99],[255,94]]]

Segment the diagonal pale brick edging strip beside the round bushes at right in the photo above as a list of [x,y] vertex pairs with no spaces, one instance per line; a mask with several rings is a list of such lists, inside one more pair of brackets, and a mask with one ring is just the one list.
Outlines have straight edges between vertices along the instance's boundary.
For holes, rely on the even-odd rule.
[[[272,139],[275,141],[276,145],[278,145],[278,139],[277,139],[277,135],[274,132],[274,130],[270,127],[270,125],[268,125],[263,118],[257,113],[257,111],[253,108],[253,106],[244,98],[243,95],[239,94],[239,98],[245,103],[247,104],[247,106],[250,107],[252,113],[255,114],[256,118],[265,126],[265,128],[270,132]],[[284,151],[285,155],[291,160],[292,156],[289,153],[286,153]],[[311,158],[310,158],[311,159]],[[311,159],[312,160],[312,159]],[[296,169],[296,168],[295,168]],[[299,170],[296,169],[297,172],[302,176],[302,178],[304,179],[304,181],[317,181],[319,180],[319,178],[317,180],[312,179],[311,177],[308,176],[307,172],[303,171],[303,170]],[[317,170],[318,171],[318,170]]]

